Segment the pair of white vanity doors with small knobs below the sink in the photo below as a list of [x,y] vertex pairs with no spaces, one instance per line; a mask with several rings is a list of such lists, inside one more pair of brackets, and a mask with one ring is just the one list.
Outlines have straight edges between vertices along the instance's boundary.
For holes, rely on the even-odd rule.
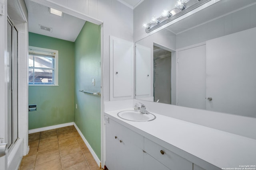
[[142,170],[143,137],[109,119],[106,123],[106,166],[109,170]]

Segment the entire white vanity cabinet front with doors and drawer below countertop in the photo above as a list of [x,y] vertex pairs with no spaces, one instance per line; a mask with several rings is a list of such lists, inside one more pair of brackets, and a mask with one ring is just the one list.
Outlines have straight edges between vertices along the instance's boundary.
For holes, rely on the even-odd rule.
[[113,119],[106,122],[106,167],[109,170],[193,170],[192,162]]

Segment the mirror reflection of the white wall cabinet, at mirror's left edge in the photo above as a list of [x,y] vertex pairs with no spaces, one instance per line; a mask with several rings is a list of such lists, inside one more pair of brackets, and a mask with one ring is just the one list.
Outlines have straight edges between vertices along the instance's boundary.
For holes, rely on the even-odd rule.
[[136,45],[135,57],[135,91],[136,98],[150,97],[151,91],[151,49]]

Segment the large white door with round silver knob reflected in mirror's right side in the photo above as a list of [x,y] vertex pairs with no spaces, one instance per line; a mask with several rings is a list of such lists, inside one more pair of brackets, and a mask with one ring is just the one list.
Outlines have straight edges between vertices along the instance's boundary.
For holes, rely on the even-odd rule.
[[255,45],[256,28],[206,41],[206,109],[255,116]]

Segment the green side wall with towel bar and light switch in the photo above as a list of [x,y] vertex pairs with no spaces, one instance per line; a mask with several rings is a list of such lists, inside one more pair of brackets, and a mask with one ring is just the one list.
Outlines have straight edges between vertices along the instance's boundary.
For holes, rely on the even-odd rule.
[[[75,41],[75,123],[100,159],[100,25],[86,22]],[[95,86],[92,79],[95,78]]]

